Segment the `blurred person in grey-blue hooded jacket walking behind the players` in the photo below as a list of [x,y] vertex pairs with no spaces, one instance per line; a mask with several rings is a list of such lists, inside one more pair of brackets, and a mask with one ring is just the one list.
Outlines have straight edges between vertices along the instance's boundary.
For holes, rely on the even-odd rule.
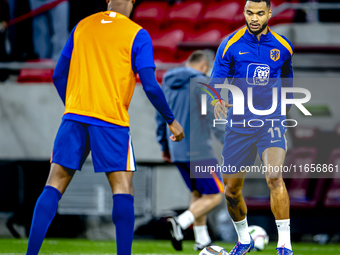
[[[203,85],[190,84],[191,78],[200,78],[208,83],[205,74],[209,70],[209,55],[204,51],[195,51],[185,67],[169,70],[163,79],[162,89],[176,115],[184,127],[186,137],[180,143],[171,143],[168,139],[170,130],[165,119],[157,113],[157,140],[162,147],[163,160],[173,161],[179,169],[185,183],[191,190],[191,203],[187,211],[175,218],[169,218],[168,226],[172,244],[176,250],[182,250],[182,230],[194,224],[195,250],[202,250],[211,244],[207,229],[207,214],[221,203],[223,184],[221,173],[199,174],[194,166],[216,166],[217,159],[212,148],[211,131],[224,142],[224,128],[212,128],[213,108],[207,115],[201,115],[201,94]],[[204,93],[204,92],[203,92]],[[211,125],[207,125],[211,123]],[[191,125],[191,129],[190,129]],[[189,136],[190,134],[190,136]]]

